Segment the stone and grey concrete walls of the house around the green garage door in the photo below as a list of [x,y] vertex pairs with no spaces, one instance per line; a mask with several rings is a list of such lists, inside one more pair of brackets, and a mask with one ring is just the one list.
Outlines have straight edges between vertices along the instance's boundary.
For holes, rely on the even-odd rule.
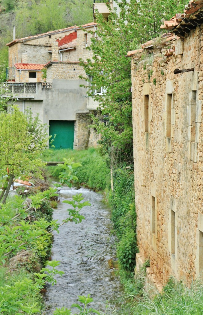
[[[87,31],[90,29],[94,30],[94,27],[87,28]],[[60,60],[56,40],[61,40],[71,32],[73,30],[14,44],[9,47],[9,66],[12,67],[15,62],[46,64],[50,60]],[[88,46],[91,37],[91,34],[87,34]],[[96,134],[88,128],[91,120],[87,109],[86,89],[80,87],[80,84],[86,85],[86,81],[79,79],[80,75],[85,76],[84,69],[79,66],[79,58],[86,60],[92,57],[91,51],[85,48],[84,39],[84,31],[77,30],[76,49],[62,52],[63,61],[47,67],[47,82],[52,83],[51,86],[48,85],[48,89],[42,89],[42,84],[37,83],[35,94],[15,95],[25,98],[24,102],[17,100],[22,110],[30,107],[33,113],[39,112],[42,123],[49,125],[50,120],[74,121],[74,148],[77,149],[84,149],[89,144],[94,146],[97,142]],[[48,52],[51,49],[53,55]],[[16,83],[30,82],[29,71],[20,73],[16,70],[15,80]],[[37,72],[36,82],[41,81],[43,79],[40,71]],[[93,103],[89,109],[96,107]]]

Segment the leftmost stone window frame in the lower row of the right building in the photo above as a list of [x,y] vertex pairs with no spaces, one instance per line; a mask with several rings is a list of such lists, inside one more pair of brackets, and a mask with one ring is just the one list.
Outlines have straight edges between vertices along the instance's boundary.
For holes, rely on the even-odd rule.
[[151,185],[151,207],[150,207],[150,233],[152,248],[156,250],[157,239],[157,198],[156,189]]

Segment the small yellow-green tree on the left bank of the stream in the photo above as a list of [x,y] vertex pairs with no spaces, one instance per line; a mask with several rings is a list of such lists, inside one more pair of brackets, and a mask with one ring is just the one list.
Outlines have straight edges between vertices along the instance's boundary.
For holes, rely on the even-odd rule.
[[[16,106],[9,112],[0,112],[0,176],[3,191],[0,201],[5,203],[15,176],[27,176],[38,173],[44,163],[37,156],[48,142],[46,126],[34,119],[31,112],[20,112]],[[5,193],[5,194],[4,194]]]

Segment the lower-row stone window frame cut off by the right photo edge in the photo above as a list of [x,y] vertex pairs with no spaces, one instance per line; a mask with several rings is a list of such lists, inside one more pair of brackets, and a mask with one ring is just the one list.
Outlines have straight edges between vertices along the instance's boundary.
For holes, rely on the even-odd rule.
[[203,214],[201,212],[198,213],[196,245],[195,269],[198,277],[200,272],[203,272]]

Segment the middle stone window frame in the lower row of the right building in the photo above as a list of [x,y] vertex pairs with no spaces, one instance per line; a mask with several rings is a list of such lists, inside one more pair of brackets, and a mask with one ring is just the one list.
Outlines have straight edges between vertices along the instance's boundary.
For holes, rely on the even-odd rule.
[[[173,213],[174,213],[174,217],[172,217]],[[168,249],[171,256],[171,269],[172,269],[173,274],[176,274],[176,265],[177,265],[176,260],[177,260],[177,253],[178,253],[178,233],[177,233],[176,199],[173,196],[171,196],[170,208],[169,208],[169,213],[168,213]]]

